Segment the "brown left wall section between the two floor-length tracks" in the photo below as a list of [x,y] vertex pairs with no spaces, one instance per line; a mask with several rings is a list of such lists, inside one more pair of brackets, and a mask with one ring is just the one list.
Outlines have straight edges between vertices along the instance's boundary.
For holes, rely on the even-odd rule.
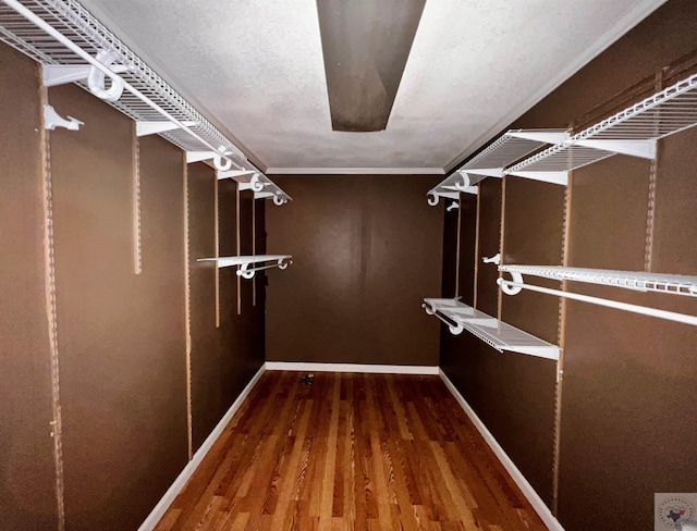
[[142,143],[135,275],[134,124],[74,86],[49,102],[85,122],[50,135],[66,521],[133,529],[186,464],[182,153]]

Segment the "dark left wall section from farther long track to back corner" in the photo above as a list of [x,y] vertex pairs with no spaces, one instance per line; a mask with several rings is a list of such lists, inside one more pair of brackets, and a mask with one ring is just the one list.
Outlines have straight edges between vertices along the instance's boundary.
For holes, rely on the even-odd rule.
[[[220,268],[199,258],[216,256],[216,173],[204,163],[188,165],[189,268],[192,304],[192,418],[196,452],[244,386],[264,363],[264,344],[257,329],[262,312],[252,306],[252,281],[240,280],[237,314],[236,268]],[[220,256],[236,255],[236,189],[219,184]],[[240,237],[242,255],[252,254],[254,197],[242,193]],[[219,325],[216,325],[216,275],[219,274]]]

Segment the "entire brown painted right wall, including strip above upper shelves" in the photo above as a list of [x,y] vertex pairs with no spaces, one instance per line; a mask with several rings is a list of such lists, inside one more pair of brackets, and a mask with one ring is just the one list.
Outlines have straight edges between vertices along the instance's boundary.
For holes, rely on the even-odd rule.
[[[657,84],[687,77],[697,69],[681,58],[694,52],[688,36],[696,33],[694,2],[669,1],[512,127],[587,126],[652,94]],[[663,70],[673,62],[688,70]],[[562,187],[506,177],[504,263],[562,263],[565,205],[568,266],[697,274],[692,245],[697,236],[695,141],[697,133],[690,129],[659,143],[648,247],[650,162],[615,156],[577,170],[570,176],[567,198]],[[493,180],[480,185],[479,257],[496,252],[485,249],[494,245],[501,220],[491,215],[497,186]],[[498,309],[496,270],[485,266],[478,271],[477,306],[492,313]],[[530,282],[560,287],[540,279]],[[687,297],[568,284],[565,288],[577,293],[697,314],[696,301]],[[557,297],[503,296],[501,313],[504,321],[552,343],[561,339]],[[697,484],[697,466],[688,457],[694,453],[690,427],[697,422],[697,330],[568,301],[561,332],[557,492],[557,363],[502,356],[464,334],[443,337],[441,363],[541,497],[548,503],[557,497],[565,529],[652,529],[653,494],[695,492]]]

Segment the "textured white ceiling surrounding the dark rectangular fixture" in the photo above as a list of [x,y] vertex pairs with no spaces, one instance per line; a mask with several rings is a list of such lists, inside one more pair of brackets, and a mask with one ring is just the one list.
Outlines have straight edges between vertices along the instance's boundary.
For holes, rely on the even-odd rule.
[[331,128],[316,0],[82,3],[262,169],[330,173],[449,170],[664,1],[428,0],[375,133]]

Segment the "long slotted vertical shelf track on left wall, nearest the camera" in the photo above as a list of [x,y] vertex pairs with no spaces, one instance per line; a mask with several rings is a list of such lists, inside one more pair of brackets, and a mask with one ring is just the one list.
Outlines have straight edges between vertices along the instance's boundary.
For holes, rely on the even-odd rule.
[[[42,75],[38,72],[39,77]],[[48,104],[46,87],[39,90],[41,109]],[[63,422],[61,413],[60,362],[58,357],[58,306],[56,294],[56,254],[53,247],[53,183],[51,176],[51,140],[44,124],[44,113],[39,116],[40,147],[44,153],[41,165],[41,199],[44,209],[44,286],[46,293],[46,316],[48,323],[49,349],[51,360],[51,409],[53,420],[51,437],[53,439],[53,465],[56,468],[56,504],[58,531],[65,529],[65,502],[63,478]]]

